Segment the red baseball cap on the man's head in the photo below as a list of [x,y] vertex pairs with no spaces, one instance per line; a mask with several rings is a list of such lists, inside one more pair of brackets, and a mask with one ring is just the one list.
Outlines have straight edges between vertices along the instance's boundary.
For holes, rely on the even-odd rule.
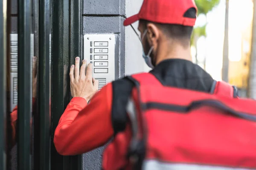
[[197,10],[195,0],[144,0],[139,14],[127,18],[124,26],[141,19],[154,23],[195,26],[196,18],[183,16],[189,8]]

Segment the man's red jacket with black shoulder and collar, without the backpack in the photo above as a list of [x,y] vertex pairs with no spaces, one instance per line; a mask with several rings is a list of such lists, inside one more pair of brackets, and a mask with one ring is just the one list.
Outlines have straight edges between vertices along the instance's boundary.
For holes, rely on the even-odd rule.
[[[183,59],[167,59],[150,73],[165,85],[206,93],[213,81],[200,66]],[[123,100],[131,96],[133,88],[133,83],[129,83],[119,79],[105,85],[88,105],[85,99],[74,97],[55,130],[54,143],[58,153],[86,153],[106,144],[114,134],[124,131],[126,113]]]

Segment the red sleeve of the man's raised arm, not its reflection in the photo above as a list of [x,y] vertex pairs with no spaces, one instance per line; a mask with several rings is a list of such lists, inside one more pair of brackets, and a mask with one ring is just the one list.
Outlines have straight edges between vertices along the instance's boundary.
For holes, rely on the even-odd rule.
[[54,134],[61,155],[78,155],[102,146],[113,136],[112,83],[103,87],[90,103],[74,97],[67,105]]

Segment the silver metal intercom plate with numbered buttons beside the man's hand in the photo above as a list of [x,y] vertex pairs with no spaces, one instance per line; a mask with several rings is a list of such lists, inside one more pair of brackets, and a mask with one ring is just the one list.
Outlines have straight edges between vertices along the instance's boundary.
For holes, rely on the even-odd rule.
[[115,80],[114,34],[85,34],[84,59],[93,64],[93,77],[99,80],[99,90]]

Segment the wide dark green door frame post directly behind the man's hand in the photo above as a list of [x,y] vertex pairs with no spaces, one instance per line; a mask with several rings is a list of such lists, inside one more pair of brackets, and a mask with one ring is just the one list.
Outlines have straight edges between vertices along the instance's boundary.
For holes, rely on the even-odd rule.
[[[61,156],[53,144],[54,131],[70,101],[69,68],[81,57],[81,0],[52,0],[52,140],[51,169],[81,170],[81,156]],[[64,67],[67,68],[64,74]]]

